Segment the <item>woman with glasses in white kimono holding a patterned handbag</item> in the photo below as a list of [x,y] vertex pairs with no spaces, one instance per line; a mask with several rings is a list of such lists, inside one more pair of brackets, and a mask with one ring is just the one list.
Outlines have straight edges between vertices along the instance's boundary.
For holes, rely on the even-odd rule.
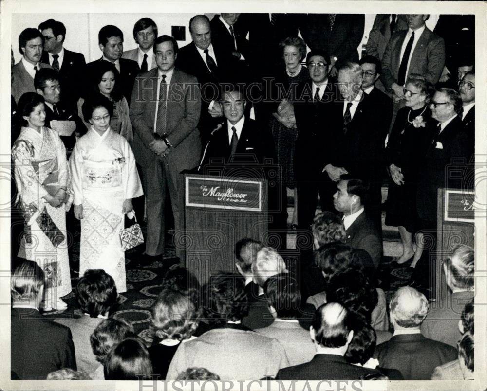
[[132,210],[132,198],[143,194],[142,184],[129,143],[110,126],[112,103],[95,96],[82,109],[91,127],[69,159],[75,217],[81,220],[79,275],[103,269],[122,293],[127,287],[120,231],[124,214]]

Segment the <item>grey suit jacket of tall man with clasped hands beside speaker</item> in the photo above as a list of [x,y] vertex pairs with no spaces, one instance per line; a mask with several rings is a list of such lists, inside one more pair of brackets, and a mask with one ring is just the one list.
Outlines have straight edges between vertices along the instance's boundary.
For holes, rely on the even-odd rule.
[[[132,91],[129,116],[133,127],[133,153],[142,167],[147,167],[156,155],[149,149],[155,140],[158,70],[139,73]],[[173,151],[167,155],[168,165],[178,172],[198,165],[201,154],[200,120],[201,96],[196,77],[174,68],[167,99],[166,134]]]

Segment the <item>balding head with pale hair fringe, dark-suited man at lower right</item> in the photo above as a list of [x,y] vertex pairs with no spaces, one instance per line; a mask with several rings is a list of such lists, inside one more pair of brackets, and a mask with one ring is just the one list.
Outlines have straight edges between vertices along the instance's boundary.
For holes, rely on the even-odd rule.
[[429,304],[425,295],[411,286],[404,286],[394,294],[390,308],[394,330],[419,329]]

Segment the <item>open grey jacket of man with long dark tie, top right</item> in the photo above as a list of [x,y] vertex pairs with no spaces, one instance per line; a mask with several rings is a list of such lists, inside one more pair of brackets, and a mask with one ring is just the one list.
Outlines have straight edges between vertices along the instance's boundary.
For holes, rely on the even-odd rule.
[[[386,46],[382,58],[382,78],[387,89],[397,81],[399,66],[401,65],[401,47],[406,39],[408,30],[394,33]],[[423,34],[412,52],[406,79],[412,73],[417,73],[432,84],[436,84],[445,65],[445,41],[425,27]]]

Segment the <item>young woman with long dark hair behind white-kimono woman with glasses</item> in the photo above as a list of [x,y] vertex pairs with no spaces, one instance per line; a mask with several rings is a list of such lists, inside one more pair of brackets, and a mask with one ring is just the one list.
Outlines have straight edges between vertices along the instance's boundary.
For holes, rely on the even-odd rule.
[[[92,99],[97,95],[107,97],[113,105],[113,115],[110,117],[110,127],[115,133],[125,137],[131,144],[133,140],[132,124],[129,119],[129,105],[122,95],[120,85],[120,74],[115,66],[109,61],[98,61],[96,67],[90,74],[91,86],[86,99]],[[83,118],[84,98],[78,100],[78,115]],[[85,120],[86,128],[91,124]]]

